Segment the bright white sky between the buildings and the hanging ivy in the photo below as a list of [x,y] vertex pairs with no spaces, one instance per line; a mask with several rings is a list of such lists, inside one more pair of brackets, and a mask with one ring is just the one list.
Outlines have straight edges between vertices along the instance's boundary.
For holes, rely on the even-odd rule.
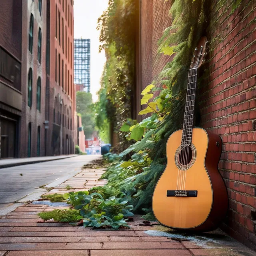
[[97,20],[108,7],[108,0],[74,0],[74,38],[91,39],[91,93],[95,102],[100,78],[106,62],[105,52],[99,53]]

